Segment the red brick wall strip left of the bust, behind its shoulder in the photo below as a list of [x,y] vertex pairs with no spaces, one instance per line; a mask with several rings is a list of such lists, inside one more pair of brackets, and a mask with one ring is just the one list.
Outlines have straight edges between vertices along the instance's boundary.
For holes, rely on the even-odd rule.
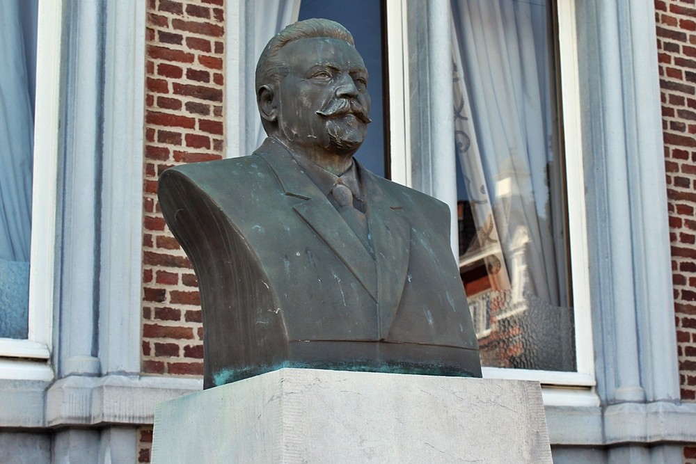
[[[148,375],[203,374],[196,276],[164,223],[157,177],[223,153],[223,0],[148,0],[143,186],[143,342]],[[139,431],[150,462],[152,429]]]

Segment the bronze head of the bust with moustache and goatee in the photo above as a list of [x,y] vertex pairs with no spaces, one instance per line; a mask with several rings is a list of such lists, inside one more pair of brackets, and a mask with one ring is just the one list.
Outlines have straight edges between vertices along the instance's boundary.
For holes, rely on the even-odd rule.
[[345,27],[328,19],[291,24],[271,38],[256,67],[263,127],[312,159],[351,157],[370,122],[367,79]]

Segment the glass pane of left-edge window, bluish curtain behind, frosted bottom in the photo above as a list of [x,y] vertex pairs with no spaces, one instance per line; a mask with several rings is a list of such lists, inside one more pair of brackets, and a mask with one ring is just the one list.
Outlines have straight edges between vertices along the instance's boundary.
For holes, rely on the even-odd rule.
[[36,7],[0,1],[0,337],[26,337]]

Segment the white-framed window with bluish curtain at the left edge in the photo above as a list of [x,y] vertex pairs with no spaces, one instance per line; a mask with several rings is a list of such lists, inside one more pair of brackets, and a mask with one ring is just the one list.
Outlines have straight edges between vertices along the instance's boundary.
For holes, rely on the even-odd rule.
[[[17,0],[3,2],[2,6],[14,10],[14,13],[10,16],[8,11],[7,17],[4,14],[0,15],[0,20],[6,21],[8,17],[14,17],[13,24],[17,26],[22,24],[22,18],[24,18],[26,19],[24,24],[29,24],[19,34],[22,36],[21,42],[24,42],[23,47],[26,47],[27,50],[35,49],[35,57],[31,56],[31,52],[21,55],[29,57],[23,58],[24,63],[27,61],[30,63],[29,68],[31,68],[31,63],[35,61],[35,73],[30,71],[28,74],[22,74],[17,84],[23,83],[25,86],[25,104],[29,106],[28,111],[31,113],[33,109],[33,104],[31,104],[33,99],[35,99],[35,106],[41,108],[42,111],[34,115],[33,127],[36,129],[33,134],[31,118],[29,127],[26,127],[26,118],[22,118],[24,123],[22,131],[24,131],[25,136],[19,142],[19,149],[24,152],[22,155],[24,157],[23,166],[26,166],[33,153],[33,168],[29,169],[28,177],[25,173],[22,180],[25,185],[31,185],[32,193],[29,197],[31,198],[31,207],[25,207],[25,211],[31,211],[31,232],[24,230],[19,234],[25,243],[26,251],[24,254],[19,257],[15,255],[14,258],[10,257],[9,259],[19,259],[19,261],[24,262],[22,265],[24,267],[21,269],[24,271],[22,288],[6,285],[7,282],[2,284],[6,289],[16,290],[16,294],[21,294],[24,299],[20,303],[17,303],[16,300],[12,303],[15,308],[21,307],[23,312],[19,314],[18,309],[13,310],[13,319],[16,322],[13,325],[6,324],[2,329],[3,333],[0,334],[0,356],[13,358],[13,360],[0,359],[0,367],[3,371],[3,378],[47,380],[53,376],[52,369],[47,364],[24,362],[21,359],[47,360],[51,346],[61,2],[42,1],[38,4],[37,1]],[[32,29],[38,33],[32,33]],[[3,26],[3,30],[8,29]],[[15,39],[20,40],[16,34]],[[32,42],[35,45],[32,46]],[[18,51],[17,47],[13,49]],[[34,74],[38,80],[36,85],[33,84],[31,74]],[[5,78],[6,74],[3,74],[3,79]],[[35,95],[33,95],[34,89],[36,89]],[[9,109],[10,113],[17,117],[19,109],[17,109],[16,104],[8,106],[6,109]],[[32,143],[33,150],[31,149]],[[26,150],[27,147],[29,150]],[[13,150],[15,149],[13,148]],[[3,159],[3,164],[6,162]],[[3,175],[4,173],[6,173],[5,169],[3,169]],[[16,221],[13,223],[16,224]],[[12,240],[13,243],[17,241],[14,238]],[[29,251],[30,249],[31,251]],[[3,258],[7,259],[7,257]],[[31,262],[31,269],[29,269],[29,262]],[[14,275],[18,274],[15,270]],[[26,278],[29,278],[28,283]],[[3,280],[5,279],[6,277],[3,276]]]

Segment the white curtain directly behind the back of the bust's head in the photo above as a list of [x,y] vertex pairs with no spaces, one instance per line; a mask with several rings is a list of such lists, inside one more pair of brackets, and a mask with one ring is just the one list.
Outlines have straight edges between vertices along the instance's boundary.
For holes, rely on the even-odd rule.
[[[264,47],[271,37],[282,31],[285,26],[297,21],[300,11],[300,0],[262,0],[255,3],[254,9],[254,57],[258,60]],[[251,86],[248,88],[255,89],[253,79],[255,75],[254,69],[250,70],[248,75],[251,76]],[[266,139],[266,132],[261,125],[261,119],[258,111],[251,109],[249,115],[250,121],[253,121],[254,134],[256,137],[255,147],[260,146]]]

